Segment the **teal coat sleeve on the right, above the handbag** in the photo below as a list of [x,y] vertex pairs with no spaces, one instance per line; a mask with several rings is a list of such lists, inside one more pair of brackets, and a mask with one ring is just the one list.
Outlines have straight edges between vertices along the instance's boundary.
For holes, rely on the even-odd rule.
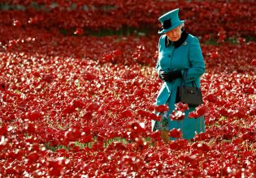
[[[191,44],[189,45],[189,62],[191,67],[188,69],[186,76],[186,83],[196,81],[205,73],[205,62],[202,57],[202,49],[197,37],[193,37]],[[184,74],[184,71],[183,71]]]

